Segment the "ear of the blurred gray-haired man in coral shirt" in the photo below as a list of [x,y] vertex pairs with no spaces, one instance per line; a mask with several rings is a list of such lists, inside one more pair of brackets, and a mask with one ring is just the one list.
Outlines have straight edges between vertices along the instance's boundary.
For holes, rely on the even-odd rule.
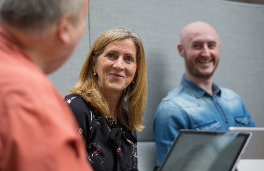
[[59,39],[64,44],[69,44],[71,42],[73,24],[73,16],[70,13],[65,13],[59,20],[57,33]]

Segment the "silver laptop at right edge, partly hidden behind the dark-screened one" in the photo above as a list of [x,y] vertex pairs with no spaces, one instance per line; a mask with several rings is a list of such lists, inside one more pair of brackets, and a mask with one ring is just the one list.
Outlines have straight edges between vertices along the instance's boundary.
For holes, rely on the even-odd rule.
[[264,127],[229,127],[230,132],[252,132],[241,159],[264,159]]

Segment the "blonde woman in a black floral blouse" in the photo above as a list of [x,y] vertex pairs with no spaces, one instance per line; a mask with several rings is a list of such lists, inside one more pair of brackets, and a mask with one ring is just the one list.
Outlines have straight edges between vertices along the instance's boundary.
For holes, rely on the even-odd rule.
[[138,170],[136,131],[144,128],[147,96],[140,36],[125,27],[103,32],[70,92],[65,103],[80,125],[94,170]]

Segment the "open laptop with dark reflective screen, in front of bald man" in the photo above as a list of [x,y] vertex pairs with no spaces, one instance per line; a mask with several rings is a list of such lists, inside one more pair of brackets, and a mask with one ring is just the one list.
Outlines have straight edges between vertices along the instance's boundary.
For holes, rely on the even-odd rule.
[[251,133],[180,129],[159,170],[234,171]]

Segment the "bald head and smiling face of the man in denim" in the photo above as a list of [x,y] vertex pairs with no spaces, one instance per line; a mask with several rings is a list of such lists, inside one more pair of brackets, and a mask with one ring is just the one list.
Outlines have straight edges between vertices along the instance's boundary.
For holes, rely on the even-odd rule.
[[211,78],[219,63],[220,42],[217,33],[206,23],[193,23],[184,27],[180,35],[180,55],[185,62],[188,77]]

